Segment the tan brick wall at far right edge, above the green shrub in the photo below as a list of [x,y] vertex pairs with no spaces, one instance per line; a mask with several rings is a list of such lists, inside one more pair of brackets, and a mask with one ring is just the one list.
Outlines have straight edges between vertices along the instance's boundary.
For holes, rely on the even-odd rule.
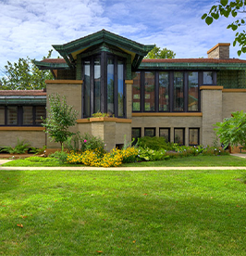
[[246,112],[246,92],[222,93],[223,115],[222,118],[231,117],[231,112],[243,110]]

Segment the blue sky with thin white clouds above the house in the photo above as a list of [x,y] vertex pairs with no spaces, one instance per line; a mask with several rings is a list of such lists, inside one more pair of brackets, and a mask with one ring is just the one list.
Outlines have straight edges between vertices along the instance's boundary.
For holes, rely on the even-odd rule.
[[[207,26],[201,19],[214,0],[0,0],[0,70],[18,58],[42,60],[63,45],[105,29],[143,45],[166,47],[176,58],[207,58],[218,43],[230,43],[232,17]],[[53,51],[52,58],[57,53]],[[240,58],[246,58],[242,54]]]

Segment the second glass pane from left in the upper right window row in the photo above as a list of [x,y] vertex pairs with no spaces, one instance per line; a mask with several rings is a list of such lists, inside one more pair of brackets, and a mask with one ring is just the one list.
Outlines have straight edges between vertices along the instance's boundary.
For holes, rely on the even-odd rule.
[[154,72],[144,73],[144,111],[154,111]]

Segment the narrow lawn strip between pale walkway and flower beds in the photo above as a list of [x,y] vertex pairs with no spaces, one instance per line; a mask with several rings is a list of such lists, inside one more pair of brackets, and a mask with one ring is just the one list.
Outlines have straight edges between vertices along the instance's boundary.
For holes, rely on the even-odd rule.
[[[28,159],[26,160],[13,160],[3,164],[3,166],[84,166],[84,165],[74,165],[74,164],[60,164],[58,160],[52,159],[53,161],[47,161],[43,159],[41,162],[32,162]],[[122,164],[121,166],[139,166],[139,167],[153,167],[153,166],[246,166],[246,159],[233,157],[233,156],[197,156],[188,157],[181,159],[170,159],[170,160],[159,160],[159,161],[142,161],[134,162],[128,164]]]

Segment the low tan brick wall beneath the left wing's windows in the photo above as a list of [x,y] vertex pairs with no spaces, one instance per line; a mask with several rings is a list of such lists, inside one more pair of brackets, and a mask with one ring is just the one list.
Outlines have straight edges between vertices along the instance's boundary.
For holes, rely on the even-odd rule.
[[43,131],[0,131],[0,147],[15,147],[18,139],[25,140],[31,147],[43,147],[45,145],[45,133]]

